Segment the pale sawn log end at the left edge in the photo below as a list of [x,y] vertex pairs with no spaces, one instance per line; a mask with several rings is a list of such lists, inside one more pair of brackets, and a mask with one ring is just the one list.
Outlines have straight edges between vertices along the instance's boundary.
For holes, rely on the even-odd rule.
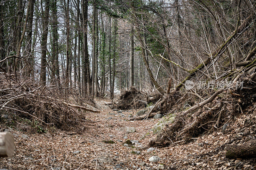
[[14,152],[14,139],[8,132],[0,133],[0,157],[10,157]]

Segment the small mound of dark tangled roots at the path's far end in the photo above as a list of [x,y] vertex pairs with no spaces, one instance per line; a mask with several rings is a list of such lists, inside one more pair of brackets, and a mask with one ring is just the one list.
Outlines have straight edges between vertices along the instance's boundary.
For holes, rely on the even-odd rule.
[[135,87],[130,87],[129,90],[123,90],[119,100],[113,103],[113,108],[129,109],[143,108],[147,106],[146,94],[138,91]]

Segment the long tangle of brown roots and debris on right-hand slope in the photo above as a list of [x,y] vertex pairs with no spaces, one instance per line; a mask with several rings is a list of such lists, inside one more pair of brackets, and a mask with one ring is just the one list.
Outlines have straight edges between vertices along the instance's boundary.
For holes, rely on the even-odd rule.
[[[205,105],[200,105],[190,113],[182,111],[176,114],[174,122],[160,131],[156,138],[149,142],[150,146],[168,146],[174,142],[189,142],[191,138],[221,128],[231,122],[235,115],[252,105],[256,100],[256,79],[244,76],[243,88],[227,90],[226,97],[218,97]],[[215,92],[216,93],[216,92]],[[212,97],[211,96],[211,97]],[[210,99],[210,98],[209,98]],[[196,106],[196,105],[195,105]],[[204,106],[204,107],[202,107]],[[191,107],[193,108],[193,107]]]

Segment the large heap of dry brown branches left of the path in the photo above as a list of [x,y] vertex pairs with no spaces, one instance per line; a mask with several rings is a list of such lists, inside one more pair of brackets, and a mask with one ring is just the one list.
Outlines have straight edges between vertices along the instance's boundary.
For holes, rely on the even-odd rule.
[[[34,121],[51,124],[61,129],[80,126],[85,120],[84,104],[93,105],[90,100],[80,99],[76,92],[69,90],[64,100],[63,90],[54,86],[38,86],[34,80],[15,76],[0,75],[0,114],[11,114]],[[72,104],[70,104],[72,103]]]

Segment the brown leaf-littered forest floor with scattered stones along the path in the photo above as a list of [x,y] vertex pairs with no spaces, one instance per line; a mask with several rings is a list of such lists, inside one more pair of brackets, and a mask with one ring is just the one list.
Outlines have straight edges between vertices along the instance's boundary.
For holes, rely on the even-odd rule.
[[[152,131],[140,140],[140,148],[124,147],[127,139],[139,140],[159,121],[127,121],[128,115],[135,115],[139,109],[117,113],[103,101],[96,100],[101,113],[88,113],[87,126],[80,131],[68,132],[54,129],[52,138],[49,132],[36,133],[35,129],[24,123],[6,128],[13,134],[15,152],[12,157],[0,158],[0,169],[256,169],[256,159],[227,159],[224,148],[235,140],[243,141],[256,136],[256,113],[237,116],[232,126],[225,132],[213,131],[199,136],[188,144],[155,148],[147,152],[148,142],[154,137]],[[251,122],[246,120],[250,120]],[[252,120],[254,120],[253,124]],[[135,127],[136,132],[127,134],[125,127]],[[3,126],[0,128],[4,128]],[[47,137],[46,137],[47,136]],[[113,140],[115,144],[106,144],[103,140]],[[132,151],[140,151],[133,154]],[[149,162],[151,156],[158,156],[158,162]],[[161,168],[159,166],[159,168]]]

